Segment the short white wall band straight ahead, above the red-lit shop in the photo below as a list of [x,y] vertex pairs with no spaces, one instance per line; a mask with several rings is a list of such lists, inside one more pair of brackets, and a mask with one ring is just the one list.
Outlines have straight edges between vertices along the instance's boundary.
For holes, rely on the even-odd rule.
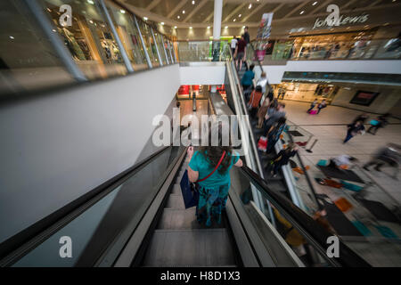
[[225,65],[180,67],[181,85],[222,85],[225,83]]

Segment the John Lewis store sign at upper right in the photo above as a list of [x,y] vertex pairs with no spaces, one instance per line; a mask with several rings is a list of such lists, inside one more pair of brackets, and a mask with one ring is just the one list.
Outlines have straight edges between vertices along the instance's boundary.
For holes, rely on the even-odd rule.
[[340,15],[340,8],[336,4],[331,4],[327,6],[327,12],[331,12],[326,19],[317,18],[315,20],[314,28],[322,28],[322,27],[333,27],[333,26],[342,26],[349,24],[357,24],[364,23],[369,19],[369,14],[360,14],[356,16],[344,16]]

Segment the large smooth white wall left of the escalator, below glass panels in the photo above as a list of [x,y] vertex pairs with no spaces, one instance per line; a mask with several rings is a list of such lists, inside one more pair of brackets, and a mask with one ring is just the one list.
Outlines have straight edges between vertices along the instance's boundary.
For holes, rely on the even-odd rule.
[[133,166],[179,86],[176,64],[4,105],[0,242]]

